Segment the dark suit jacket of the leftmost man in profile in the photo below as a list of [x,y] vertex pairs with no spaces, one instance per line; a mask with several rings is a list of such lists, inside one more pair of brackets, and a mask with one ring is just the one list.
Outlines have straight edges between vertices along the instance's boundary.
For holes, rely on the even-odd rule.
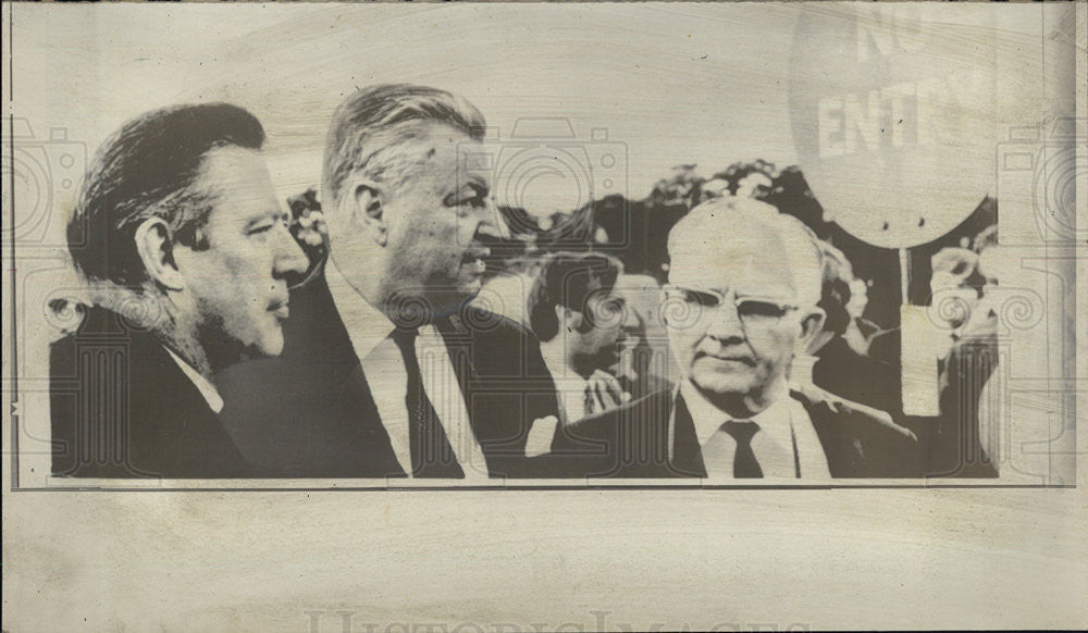
[[159,340],[91,308],[50,348],[52,473],[235,477],[242,454]]

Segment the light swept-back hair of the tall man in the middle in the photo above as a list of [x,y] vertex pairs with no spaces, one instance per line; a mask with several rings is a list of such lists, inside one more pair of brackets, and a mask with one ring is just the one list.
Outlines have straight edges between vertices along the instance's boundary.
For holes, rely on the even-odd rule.
[[[412,138],[411,124],[443,123],[482,139],[486,122],[463,97],[429,86],[382,84],[353,92],[333,113],[325,140],[322,195],[330,210],[339,199],[348,175],[371,170],[376,178],[384,165],[375,157]],[[329,211],[325,211],[326,213]]]

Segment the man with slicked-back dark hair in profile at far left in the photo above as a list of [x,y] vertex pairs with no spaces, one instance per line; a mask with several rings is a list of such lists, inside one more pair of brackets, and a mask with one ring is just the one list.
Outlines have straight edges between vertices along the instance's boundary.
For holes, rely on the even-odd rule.
[[215,373],[281,352],[307,264],[263,142],[214,103],[138,116],[99,150],[69,225],[92,307],[50,351],[54,475],[247,474]]

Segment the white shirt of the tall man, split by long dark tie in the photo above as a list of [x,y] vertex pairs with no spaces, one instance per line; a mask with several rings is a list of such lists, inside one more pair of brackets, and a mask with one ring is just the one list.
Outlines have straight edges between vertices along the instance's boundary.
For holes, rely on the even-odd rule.
[[[333,302],[347,328],[351,347],[362,363],[362,372],[370,385],[378,414],[390,435],[390,442],[400,468],[411,473],[410,419],[405,397],[408,394],[408,371],[404,357],[391,335],[396,326],[381,310],[363,299],[330,260],[325,265],[325,280]],[[423,390],[438,414],[438,422],[446,432],[457,463],[467,480],[485,479],[487,462],[483,449],[472,433],[468,408],[457,382],[454,363],[445,342],[434,325],[419,328],[416,337],[416,356],[423,382]]]

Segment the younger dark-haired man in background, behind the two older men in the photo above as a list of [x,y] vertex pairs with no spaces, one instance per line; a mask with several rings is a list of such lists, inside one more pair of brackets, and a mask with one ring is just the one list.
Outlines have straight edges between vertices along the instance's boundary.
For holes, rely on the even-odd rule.
[[571,424],[630,399],[605,369],[631,319],[616,281],[619,260],[601,253],[548,256],[533,288],[530,325],[556,382],[562,423]]

